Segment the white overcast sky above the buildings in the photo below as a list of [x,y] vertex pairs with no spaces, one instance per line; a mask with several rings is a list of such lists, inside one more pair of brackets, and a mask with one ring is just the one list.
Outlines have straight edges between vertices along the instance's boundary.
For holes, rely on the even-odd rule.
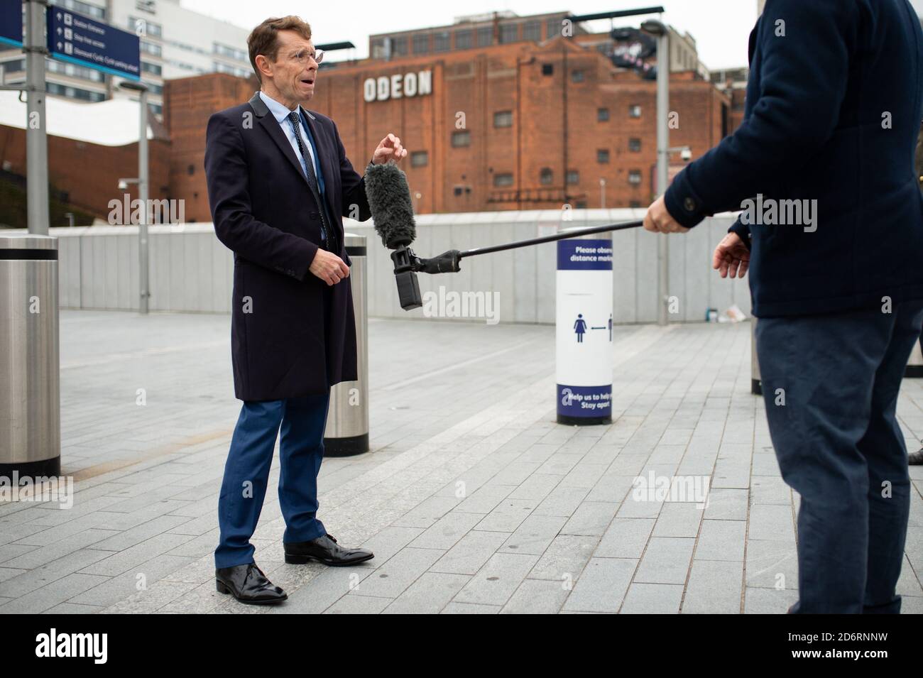
[[[923,0],[911,0],[923,12]],[[294,0],[181,0],[183,6],[222,18],[246,29],[264,18],[297,14],[311,24],[315,42],[352,41],[354,57],[368,55],[368,36],[391,30],[444,26],[462,15],[511,10],[520,16],[570,11],[593,14],[615,9],[663,6],[665,21],[696,39],[702,63],[711,69],[747,65],[747,39],[756,22],[757,0],[345,0],[306,3]],[[637,25],[641,18],[621,19],[617,25]],[[588,24],[593,31],[608,30],[610,22]],[[331,55],[336,59],[346,53]]]

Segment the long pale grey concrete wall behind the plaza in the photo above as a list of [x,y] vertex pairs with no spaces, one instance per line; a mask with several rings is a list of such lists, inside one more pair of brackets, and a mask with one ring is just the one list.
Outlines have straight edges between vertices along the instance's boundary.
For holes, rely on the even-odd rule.
[[[640,219],[641,210],[573,210],[567,227]],[[414,251],[435,256],[449,249],[507,243],[556,232],[561,212],[502,211],[417,217]],[[674,320],[701,321],[709,307],[731,303],[749,315],[747,280],[721,280],[712,270],[714,245],[733,222],[705,220],[691,232],[671,235],[669,294],[678,298]],[[423,309],[402,310],[397,300],[390,250],[371,221],[346,220],[347,232],[366,235],[368,313],[378,317],[423,317]],[[66,308],[138,308],[138,229],[130,226],[52,229],[60,247],[60,305]],[[617,323],[657,318],[657,237],[641,229],[613,233],[614,314]],[[210,224],[150,227],[150,309],[229,313],[231,253]],[[554,323],[556,246],[542,244],[462,259],[462,271],[419,274],[421,291],[497,291],[500,322]],[[482,320],[483,322],[483,320]]]

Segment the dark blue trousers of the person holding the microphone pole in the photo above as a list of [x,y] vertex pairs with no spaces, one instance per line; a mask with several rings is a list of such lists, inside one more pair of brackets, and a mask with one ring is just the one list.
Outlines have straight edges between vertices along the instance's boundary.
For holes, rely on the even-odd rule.
[[894,415],[923,302],[756,326],[782,477],[801,495],[796,613],[899,613],[910,480]]

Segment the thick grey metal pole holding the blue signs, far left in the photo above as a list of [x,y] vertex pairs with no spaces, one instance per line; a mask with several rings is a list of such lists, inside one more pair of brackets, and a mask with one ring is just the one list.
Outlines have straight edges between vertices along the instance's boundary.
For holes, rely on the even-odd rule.
[[26,199],[29,232],[48,235],[48,136],[45,125],[45,2],[27,0]]

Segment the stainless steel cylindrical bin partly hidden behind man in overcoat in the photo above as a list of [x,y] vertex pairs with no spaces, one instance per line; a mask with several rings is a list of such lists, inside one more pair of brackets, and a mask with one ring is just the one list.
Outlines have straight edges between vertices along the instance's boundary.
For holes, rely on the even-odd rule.
[[346,254],[352,259],[357,381],[330,389],[330,411],[324,431],[324,455],[349,457],[368,451],[368,297],[366,236],[346,233]]

